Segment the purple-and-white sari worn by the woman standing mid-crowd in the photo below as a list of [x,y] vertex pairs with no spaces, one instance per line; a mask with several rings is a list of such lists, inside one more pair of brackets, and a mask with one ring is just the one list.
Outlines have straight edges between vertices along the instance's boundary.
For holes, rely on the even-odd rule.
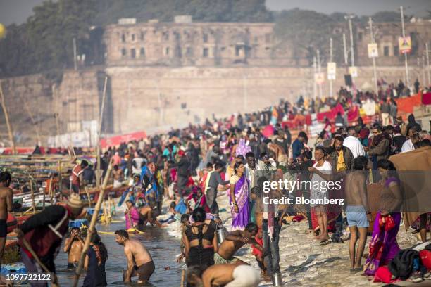
[[232,199],[230,199],[230,212],[232,213],[232,230],[244,230],[250,221],[249,211],[249,179],[243,175],[235,184],[235,200],[238,205],[238,213],[234,211]]

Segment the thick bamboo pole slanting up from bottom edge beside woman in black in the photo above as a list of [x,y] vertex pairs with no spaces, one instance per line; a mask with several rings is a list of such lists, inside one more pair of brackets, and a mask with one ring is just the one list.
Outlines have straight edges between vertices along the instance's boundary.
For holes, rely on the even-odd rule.
[[94,232],[94,226],[96,225],[97,216],[99,215],[101,203],[104,200],[104,193],[105,193],[106,185],[108,184],[108,179],[111,176],[111,170],[112,170],[112,162],[109,162],[108,170],[107,170],[107,172],[105,174],[105,178],[104,178],[104,184],[102,184],[102,186],[101,186],[99,198],[97,198],[96,206],[94,206],[94,213],[93,213],[90,225],[89,225],[88,235],[85,238],[84,248],[82,248],[82,254],[80,257],[80,262],[78,263],[77,269],[75,271],[75,281],[73,282],[73,287],[76,287],[78,281],[80,280],[82,267],[84,265],[85,255],[87,255],[89,243],[92,240],[92,234]]

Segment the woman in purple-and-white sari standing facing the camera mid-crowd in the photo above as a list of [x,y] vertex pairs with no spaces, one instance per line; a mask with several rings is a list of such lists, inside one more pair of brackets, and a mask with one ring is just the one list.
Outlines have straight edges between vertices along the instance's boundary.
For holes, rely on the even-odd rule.
[[235,162],[234,175],[230,177],[230,212],[232,230],[244,230],[249,224],[249,179],[245,177],[244,164]]

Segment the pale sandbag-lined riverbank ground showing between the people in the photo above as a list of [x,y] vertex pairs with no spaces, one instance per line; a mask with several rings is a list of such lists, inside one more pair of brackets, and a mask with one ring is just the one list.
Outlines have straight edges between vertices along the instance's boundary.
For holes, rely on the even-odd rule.
[[[231,215],[229,198],[223,195],[218,197],[220,213],[224,226],[230,230]],[[177,222],[165,227],[171,236],[180,238],[180,224]],[[368,241],[365,252],[368,253]],[[400,248],[408,248],[418,242],[418,237],[400,227],[397,236]],[[313,235],[308,232],[306,221],[284,225],[280,232],[280,269],[285,286],[382,286],[381,283],[372,283],[361,273],[351,274],[349,264],[349,241],[344,243],[331,243],[320,246],[313,241]],[[178,249],[179,250],[179,249]],[[248,262],[254,268],[258,265],[251,255],[249,246],[239,250],[236,257]],[[363,260],[362,264],[365,263]],[[430,283],[430,281],[427,281]],[[272,286],[271,282],[263,282],[260,286]]]

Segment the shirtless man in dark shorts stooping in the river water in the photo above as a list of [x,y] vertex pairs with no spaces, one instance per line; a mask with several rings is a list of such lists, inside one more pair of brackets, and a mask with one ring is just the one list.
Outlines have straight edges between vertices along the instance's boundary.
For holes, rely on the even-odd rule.
[[115,242],[124,246],[124,254],[127,257],[127,270],[123,271],[123,281],[130,283],[133,276],[138,276],[138,284],[149,281],[153,274],[153,258],[145,246],[135,239],[130,239],[125,230],[115,231]]

